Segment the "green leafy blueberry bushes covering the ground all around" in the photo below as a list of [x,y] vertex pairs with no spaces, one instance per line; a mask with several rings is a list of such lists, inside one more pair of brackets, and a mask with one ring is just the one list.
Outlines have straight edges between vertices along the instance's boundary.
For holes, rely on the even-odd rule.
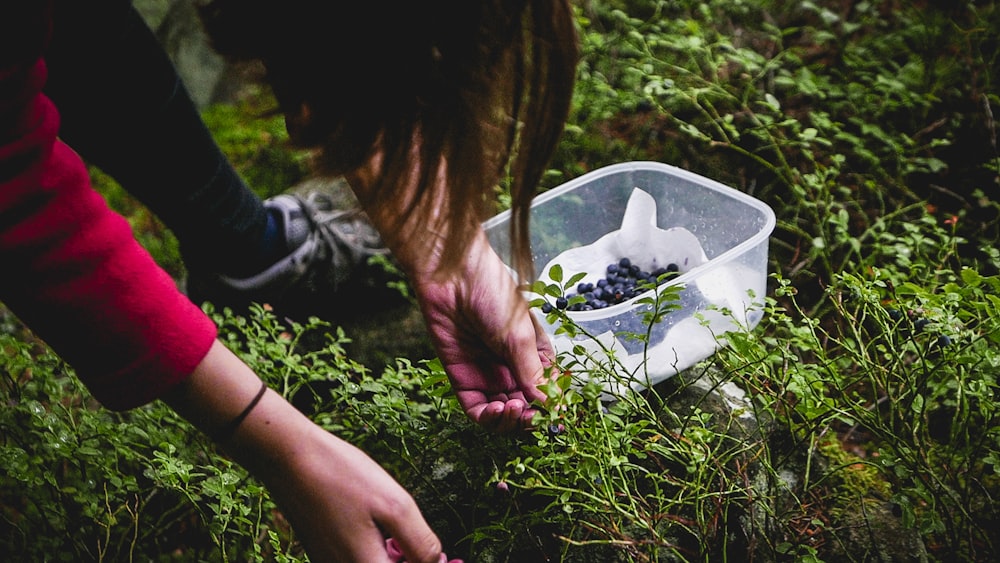
[[[466,561],[1000,557],[995,3],[579,0],[576,14],[576,97],[542,189],[648,159],[767,202],[756,328],[612,397],[600,379],[629,377],[613,356],[566,353],[523,436],[471,425],[433,358],[372,369],[327,321],[212,311],[227,343],[389,469]],[[208,121],[271,194],[304,160],[255,117],[261,96]],[[182,275],[162,227],[95,177]],[[573,330],[571,306],[603,301],[578,281],[542,280],[533,306]],[[666,311],[674,296],[637,298]],[[169,409],[109,413],[15,318],[0,327],[5,555],[305,559],[266,491]]]

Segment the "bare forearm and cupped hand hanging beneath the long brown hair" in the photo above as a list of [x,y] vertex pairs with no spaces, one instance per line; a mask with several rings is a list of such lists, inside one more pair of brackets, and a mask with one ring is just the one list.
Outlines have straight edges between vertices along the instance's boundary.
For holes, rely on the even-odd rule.
[[[419,147],[419,140],[413,145]],[[382,240],[409,277],[431,342],[465,414],[499,432],[527,426],[545,368],[555,358],[552,344],[528,310],[517,284],[475,225],[457,256],[446,255],[445,235],[451,191],[447,166],[436,170],[431,193],[418,198],[420,167],[411,154],[412,174],[398,200],[369,194],[378,184],[382,155],[376,153],[348,182],[359,194]],[[411,205],[410,214],[404,210]]]

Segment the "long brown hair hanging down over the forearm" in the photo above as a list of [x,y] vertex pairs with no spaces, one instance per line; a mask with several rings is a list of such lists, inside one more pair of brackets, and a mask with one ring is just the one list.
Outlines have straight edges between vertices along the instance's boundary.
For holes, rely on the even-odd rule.
[[[323,171],[381,155],[366,206],[400,197],[419,155],[401,218],[424,198],[448,202],[434,226],[444,267],[508,180],[514,263],[529,271],[528,206],[576,74],[570,0],[213,0],[202,17],[222,54],[263,62],[292,140],[320,148]],[[435,194],[441,166],[447,193]]]

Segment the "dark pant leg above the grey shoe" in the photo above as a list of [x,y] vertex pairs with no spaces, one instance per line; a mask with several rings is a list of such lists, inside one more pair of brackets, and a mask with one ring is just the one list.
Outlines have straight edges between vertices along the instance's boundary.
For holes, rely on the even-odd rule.
[[237,267],[263,237],[262,202],[201,121],[131,2],[56,0],[46,93],[60,136],[173,231],[189,267]]

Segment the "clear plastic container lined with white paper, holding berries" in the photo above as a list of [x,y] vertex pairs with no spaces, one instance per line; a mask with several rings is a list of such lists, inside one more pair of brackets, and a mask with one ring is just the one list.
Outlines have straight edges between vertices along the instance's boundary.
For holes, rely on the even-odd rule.
[[[553,188],[532,202],[536,278],[564,251],[591,245],[621,229],[635,188],[655,200],[659,228],[686,229],[707,257],[657,287],[662,293],[680,285],[680,308],[665,315],[643,338],[634,335],[647,333],[643,314],[650,308],[640,301],[651,292],[604,309],[566,312],[583,329],[573,338],[557,333],[560,321],[550,324],[545,314],[533,309],[557,352],[586,350],[592,366],[613,356],[618,383],[607,382],[609,391],[616,385],[654,385],[713,354],[725,345],[727,331],[756,326],[763,314],[768,239],[775,225],[774,212],[765,203],[703,176],[657,162],[615,164]],[[484,223],[490,243],[508,263],[509,221],[510,212],[504,212]],[[565,278],[573,273],[567,270]]]

